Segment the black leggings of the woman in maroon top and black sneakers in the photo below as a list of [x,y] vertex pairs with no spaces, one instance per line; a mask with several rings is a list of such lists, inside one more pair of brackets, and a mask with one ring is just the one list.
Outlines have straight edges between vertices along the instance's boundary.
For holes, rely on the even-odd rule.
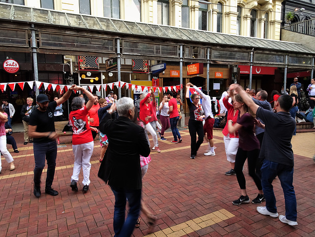
[[235,157],[235,172],[238,184],[241,189],[246,189],[246,180],[243,173],[243,166],[246,159],[248,159],[248,170],[249,175],[253,178],[258,190],[262,190],[260,178],[256,175],[256,162],[259,155],[259,149],[254,149],[252,151],[244,151],[242,148],[238,148]]

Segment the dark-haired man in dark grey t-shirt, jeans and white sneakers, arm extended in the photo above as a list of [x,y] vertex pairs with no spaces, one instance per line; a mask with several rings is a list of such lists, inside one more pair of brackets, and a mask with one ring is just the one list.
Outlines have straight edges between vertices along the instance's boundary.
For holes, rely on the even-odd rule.
[[273,180],[278,176],[285,200],[285,216],[280,215],[279,219],[290,226],[297,225],[296,197],[293,187],[294,157],[291,145],[295,121],[288,112],[293,99],[289,95],[281,96],[276,102],[275,110],[277,113],[273,113],[255,104],[240,85],[232,84],[230,90],[239,93],[257,117],[265,122],[265,134],[259,158],[264,159],[261,167],[261,184],[266,206],[258,206],[257,211],[263,215],[278,217],[272,186]]

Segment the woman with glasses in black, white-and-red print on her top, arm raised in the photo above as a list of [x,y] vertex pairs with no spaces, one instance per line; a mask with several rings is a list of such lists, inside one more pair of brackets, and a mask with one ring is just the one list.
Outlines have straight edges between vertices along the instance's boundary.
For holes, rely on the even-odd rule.
[[[189,88],[190,86],[186,85],[186,100],[187,104],[189,106],[189,134],[190,134],[190,159],[195,159],[195,156],[197,155],[197,150],[199,149],[201,143],[203,142],[203,124],[202,119],[205,118],[202,105],[199,104],[199,95],[198,94],[192,94],[191,95],[191,101],[189,98]],[[197,135],[198,134],[198,141]]]

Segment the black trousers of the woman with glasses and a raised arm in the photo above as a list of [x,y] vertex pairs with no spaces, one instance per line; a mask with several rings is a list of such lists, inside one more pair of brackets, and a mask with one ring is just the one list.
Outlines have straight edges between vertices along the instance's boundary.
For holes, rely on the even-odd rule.
[[[190,155],[195,156],[197,155],[197,151],[203,142],[203,125],[202,121],[196,121],[189,119],[188,122],[189,127],[189,134],[190,134]],[[197,135],[198,134],[198,141],[197,141]],[[197,142],[196,142],[197,141]]]

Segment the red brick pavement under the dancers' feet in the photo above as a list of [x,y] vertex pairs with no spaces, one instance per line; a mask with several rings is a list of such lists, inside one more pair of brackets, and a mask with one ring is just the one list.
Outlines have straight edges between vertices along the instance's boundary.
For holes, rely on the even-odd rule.
[[[312,159],[295,156],[294,186],[299,225],[290,227],[280,222],[278,218],[258,214],[255,204],[240,206],[232,204],[232,201],[239,197],[240,191],[236,176],[224,175],[224,172],[229,169],[229,164],[226,161],[223,140],[219,134],[214,137],[217,146],[216,156],[204,156],[206,146],[202,145],[195,160],[189,159],[189,133],[182,131],[182,134],[182,143],[170,144],[171,133],[167,133],[165,136],[169,139],[159,142],[162,152],[152,151],[151,153],[152,162],[143,180],[143,200],[151,211],[157,214],[158,221],[150,230],[146,224],[146,217],[141,214],[143,219],[140,228],[134,230],[134,237],[157,233],[221,209],[235,216],[184,236],[315,236],[315,165]],[[43,194],[37,199],[32,194],[34,166],[32,144],[23,145],[23,133],[15,133],[13,136],[18,143],[20,153],[11,153],[16,166],[13,171],[10,171],[9,165],[2,160],[0,237],[110,237],[114,234],[114,196],[109,187],[97,177],[99,142],[95,140],[94,154],[91,159],[91,185],[86,194],[81,191],[74,193],[69,187],[73,153],[71,137],[67,136],[61,137],[62,145],[65,147],[58,148],[57,169],[53,183],[53,188],[60,194],[55,197],[46,195],[42,187]],[[12,149],[10,151],[12,152]],[[247,171],[247,166],[245,166],[248,193],[253,199],[257,192]],[[18,176],[13,177],[13,174]],[[45,173],[43,172],[42,181],[44,180]],[[81,181],[82,173],[80,183],[78,183],[79,190],[83,188]],[[278,212],[284,214],[284,196],[278,179],[274,181],[274,189]],[[176,236],[175,234],[173,236]]]

